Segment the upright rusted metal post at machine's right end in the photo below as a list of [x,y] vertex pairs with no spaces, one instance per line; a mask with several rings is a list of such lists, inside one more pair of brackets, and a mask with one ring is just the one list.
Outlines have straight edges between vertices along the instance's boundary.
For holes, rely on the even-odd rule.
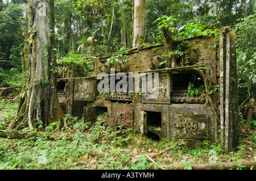
[[220,127],[221,148],[224,149],[226,153],[232,151],[238,141],[238,93],[235,40],[236,33],[230,31],[230,26],[221,28]]

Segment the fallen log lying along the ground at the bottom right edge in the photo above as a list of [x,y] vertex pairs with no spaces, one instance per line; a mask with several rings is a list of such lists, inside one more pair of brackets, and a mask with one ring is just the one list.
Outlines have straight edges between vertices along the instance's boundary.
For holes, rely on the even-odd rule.
[[[238,162],[230,163],[208,163],[208,164],[192,164],[192,170],[229,170],[237,169]],[[242,165],[245,166],[243,169],[251,169],[251,167],[256,168],[255,161],[245,161],[242,162]],[[166,166],[168,170],[184,170],[184,165],[180,164],[178,166]]]

